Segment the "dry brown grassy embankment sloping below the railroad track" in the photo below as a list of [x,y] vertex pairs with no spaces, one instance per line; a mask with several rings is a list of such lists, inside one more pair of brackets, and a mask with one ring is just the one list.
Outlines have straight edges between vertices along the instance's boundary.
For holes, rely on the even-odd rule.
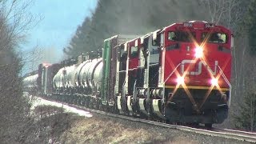
[[27,126],[24,143],[241,143],[100,114],[85,118],[47,106],[34,111],[44,116]]

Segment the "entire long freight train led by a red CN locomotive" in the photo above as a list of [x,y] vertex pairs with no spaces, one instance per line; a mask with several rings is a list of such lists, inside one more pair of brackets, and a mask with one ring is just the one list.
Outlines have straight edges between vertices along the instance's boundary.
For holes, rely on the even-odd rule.
[[116,35],[102,50],[41,64],[26,90],[112,113],[212,126],[228,116],[233,34],[203,21]]

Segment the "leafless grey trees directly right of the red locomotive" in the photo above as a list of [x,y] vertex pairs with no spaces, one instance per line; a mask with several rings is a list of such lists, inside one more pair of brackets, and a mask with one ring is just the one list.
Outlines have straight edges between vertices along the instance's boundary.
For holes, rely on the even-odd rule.
[[[252,74],[248,68],[248,62],[252,62],[248,57],[248,34],[245,26],[241,26],[246,14],[246,7],[250,1],[239,0],[201,0],[208,8],[210,21],[228,27],[234,33],[234,47],[232,48],[232,102],[230,114],[235,115],[238,105],[243,102],[243,96],[247,94],[248,78]],[[249,72],[251,73],[251,72]],[[250,76],[249,76],[250,75]],[[231,118],[231,117],[230,117]],[[226,122],[230,126],[229,121]]]

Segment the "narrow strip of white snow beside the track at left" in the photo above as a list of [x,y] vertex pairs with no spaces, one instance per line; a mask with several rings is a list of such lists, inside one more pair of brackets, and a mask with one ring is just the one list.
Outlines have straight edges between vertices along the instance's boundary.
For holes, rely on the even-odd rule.
[[[30,96],[30,98],[31,98],[31,96]],[[42,106],[42,105],[62,107],[65,110],[65,112],[70,112],[70,113],[78,114],[79,116],[84,116],[84,117],[87,117],[87,118],[90,118],[90,117],[93,116],[88,111],[78,110],[78,109],[76,109],[74,107],[70,107],[70,106],[64,105],[62,103],[51,102],[51,101],[48,101],[46,99],[38,98],[38,97],[34,97],[33,98],[33,104],[31,106],[31,109],[34,110],[34,108],[36,106]]]

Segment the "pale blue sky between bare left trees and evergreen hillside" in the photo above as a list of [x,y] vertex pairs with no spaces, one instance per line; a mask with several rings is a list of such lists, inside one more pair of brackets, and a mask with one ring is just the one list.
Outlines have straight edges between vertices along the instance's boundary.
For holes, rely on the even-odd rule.
[[97,0],[34,0],[30,13],[42,20],[29,31],[25,50],[38,45],[62,53],[78,25],[96,5]]

